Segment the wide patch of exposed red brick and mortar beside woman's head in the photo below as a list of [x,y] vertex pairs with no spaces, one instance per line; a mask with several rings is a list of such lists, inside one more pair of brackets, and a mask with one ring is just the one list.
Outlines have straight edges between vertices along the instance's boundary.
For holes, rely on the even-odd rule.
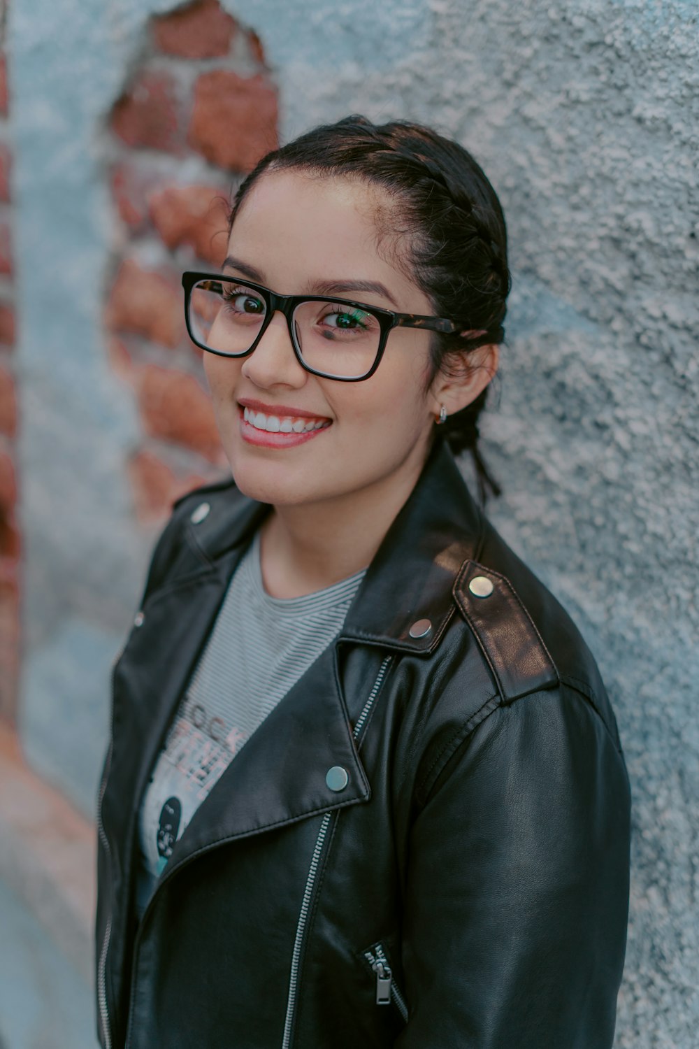
[[[277,145],[277,92],[256,34],[219,0],[151,18],[107,129],[116,224],[104,322],[143,440],[125,469],[143,522],[225,466],[201,354],[183,323],[181,271],[217,271],[235,186]],[[0,196],[3,186],[0,152]],[[0,273],[5,257],[0,222]],[[0,334],[3,330],[0,313]],[[0,381],[0,403],[2,403]]]

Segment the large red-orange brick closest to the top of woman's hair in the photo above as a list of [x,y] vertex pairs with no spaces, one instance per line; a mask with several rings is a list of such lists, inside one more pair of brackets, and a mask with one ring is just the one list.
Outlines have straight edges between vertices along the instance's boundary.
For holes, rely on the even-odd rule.
[[217,167],[249,171],[277,148],[277,92],[264,77],[214,69],[194,86],[189,142]]

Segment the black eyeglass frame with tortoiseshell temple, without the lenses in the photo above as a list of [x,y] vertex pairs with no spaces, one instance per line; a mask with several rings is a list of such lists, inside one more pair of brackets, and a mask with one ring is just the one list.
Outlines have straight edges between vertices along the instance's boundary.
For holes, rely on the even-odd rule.
[[[265,316],[262,318],[260,330],[255,337],[252,346],[243,354],[226,354],[221,349],[212,349],[211,346],[203,344],[199,341],[199,339],[195,338],[192,331],[192,325],[190,324],[190,304],[192,300],[192,291],[195,284],[197,284],[200,280],[239,283],[242,287],[249,287],[252,291],[258,292],[262,299],[264,299],[267,311]],[[256,284],[255,281],[247,280],[245,277],[228,277],[220,273],[199,273],[194,270],[187,270],[182,274],[182,287],[184,288],[184,323],[187,325],[188,335],[195,346],[198,346],[207,354],[216,354],[217,357],[227,357],[232,360],[240,360],[243,357],[249,357],[259,345],[259,342],[264,333],[267,330],[272,317],[279,311],[286,318],[286,325],[289,330],[293,355],[301,367],[305,371],[310,372],[312,376],[319,376],[321,379],[334,379],[336,382],[341,383],[361,383],[364,382],[365,379],[370,379],[373,376],[381,362],[381,358],[384,357],[389,333],[394,327],[421,328],[428,331],[442,331],[445,335],[453,335],[455,331],[461,330],[461,325],[447,320],[445,317],[429,317],[421,314],[399,314],[395,313],[393,309],[385,309],[383,306],[370,306],[366,302],[354,302],[352,299],[337,298],[337,296],[333,295],[278,295],[277,292],[272,292],[271,288],[265,287],[264,284]],[[363,376],[331,376],[327,371],[321,371],[318,368],[311,367],[304,361],[303,351],[301,346],[297,343],[297,337],[291,324],[293,312],[304,302],[335,302],[343,306],[350,306],[353,309],[362,309],[364,313],[371,314],[376,318],[380,329],[378,348],[376,350],[374,363],[369,371],[365,372]]]

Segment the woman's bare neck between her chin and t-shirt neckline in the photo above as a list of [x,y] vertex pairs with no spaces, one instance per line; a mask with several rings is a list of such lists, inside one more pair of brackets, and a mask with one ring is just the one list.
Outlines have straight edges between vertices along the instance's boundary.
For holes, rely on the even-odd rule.
[[366,569],[415,487],[421,465],[407,462],[389,478],[349,495],[275,507],[261,530],[266,592],[301,597]]

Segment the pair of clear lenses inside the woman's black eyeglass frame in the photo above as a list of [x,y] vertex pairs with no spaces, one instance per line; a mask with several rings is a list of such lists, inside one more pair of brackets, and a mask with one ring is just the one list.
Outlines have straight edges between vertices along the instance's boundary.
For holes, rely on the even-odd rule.
[[[218,354],[246,354],[265,315],[260,293],[239,281],[200,280],[192,288],[192,334]],[[302,302],[293,311],[292,326],[303,361],[316,371],[357,378],[370,371],[376,360],[381,334],[378,320],[346,302]]]

